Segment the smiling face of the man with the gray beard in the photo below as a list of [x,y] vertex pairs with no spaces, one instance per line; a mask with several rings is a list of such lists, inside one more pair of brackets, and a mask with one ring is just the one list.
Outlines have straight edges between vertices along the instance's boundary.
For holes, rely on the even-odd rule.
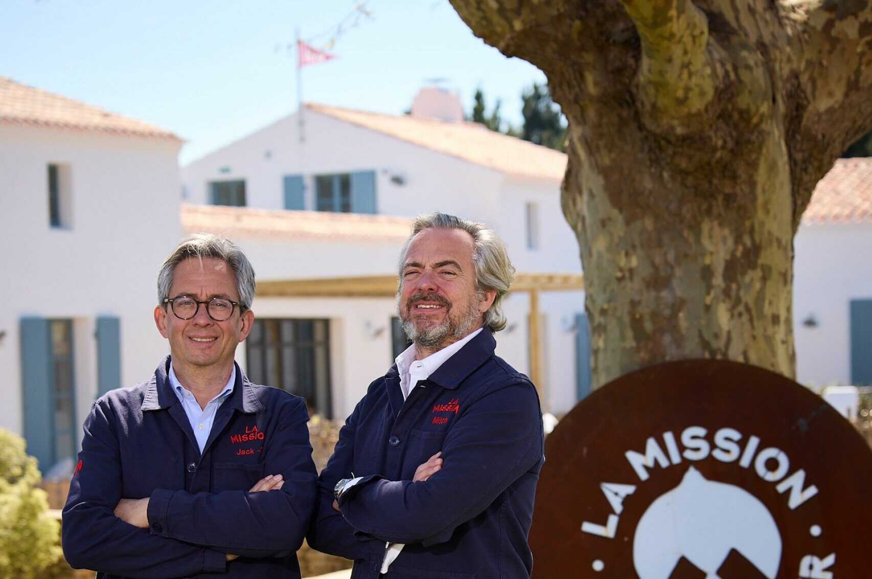
[[419,357],[481,327],[494,291],[477,291],[473,238],[460,229],[429,228],[412,239],[397,294],[397,313]]

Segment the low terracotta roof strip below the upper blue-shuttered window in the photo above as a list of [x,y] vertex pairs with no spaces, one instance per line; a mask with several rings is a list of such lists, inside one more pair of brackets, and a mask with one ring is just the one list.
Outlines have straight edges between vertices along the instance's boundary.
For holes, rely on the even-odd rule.
[[182,205],[181,225],[187,232],[220,233],[230,239],[314,239],[401,244],[412,232],[412,218],[223,205]]

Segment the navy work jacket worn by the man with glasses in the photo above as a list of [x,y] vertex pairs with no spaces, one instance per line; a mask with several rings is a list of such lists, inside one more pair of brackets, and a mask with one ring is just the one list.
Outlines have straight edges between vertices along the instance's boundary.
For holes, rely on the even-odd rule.
[[[98,578],[298,579],[317,484],[305,401],[235,366],[201,454],[168,371],[167,356],[152,380],[94,402],[64,507],[67,561]],[[249,493],[265,475],[282,475],[283,488]],[[112,514],[119,499],[146,496],[149,529]]]

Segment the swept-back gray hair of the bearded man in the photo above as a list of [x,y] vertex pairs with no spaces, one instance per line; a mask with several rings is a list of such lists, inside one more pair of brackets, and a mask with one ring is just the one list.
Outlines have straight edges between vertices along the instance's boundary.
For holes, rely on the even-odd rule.
[[403,285],[405,254],[412,239],[425,229],[460,229],[473,237],[473,267],[475,268],[475,288],[477,291],[496,292],[494,303],[482,316],[482,325],[491,332],[499,332],[506,327],[506,314],[502,312],[502,300],[514,280],[514,266],[508,259],[506,244],[493,229],[479,221],[468,221],[445,213],[424,213],[412,222],[412,235],[405,240],[403,251],[399,253],[399,285]]

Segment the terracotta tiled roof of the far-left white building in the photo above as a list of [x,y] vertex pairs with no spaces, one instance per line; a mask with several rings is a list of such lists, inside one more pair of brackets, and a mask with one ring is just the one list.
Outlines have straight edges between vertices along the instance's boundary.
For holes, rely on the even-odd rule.
[[0,124],[181,141],[160,127],[17,83],[7,77],[0,77]]

